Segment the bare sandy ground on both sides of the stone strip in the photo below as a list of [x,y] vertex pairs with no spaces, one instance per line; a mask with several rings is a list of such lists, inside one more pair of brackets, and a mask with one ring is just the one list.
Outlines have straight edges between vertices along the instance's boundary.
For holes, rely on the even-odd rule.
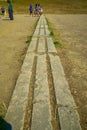
[[[62,48],[57,48],[83,130],[87,130],[87,15],[46,15]],[[27,36],[36,17],[15,15],[0,19],[0,115],[5,115],[26,54]]]

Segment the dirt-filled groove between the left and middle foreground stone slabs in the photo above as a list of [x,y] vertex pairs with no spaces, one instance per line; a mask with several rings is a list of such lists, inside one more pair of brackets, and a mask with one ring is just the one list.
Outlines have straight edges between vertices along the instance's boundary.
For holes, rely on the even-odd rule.
[[26,115],[24,121],[23,130],[31,130],[32,124],[32,111],[33,111],[33,96],[34,96],[34,84],[35,84],[35,76],[36,76],[36,65],[37,65],[37,56],[34,57],[34,62],[32,66],[32,75],[29,84],[29,95],[28,95],[28,103],[26,107]]

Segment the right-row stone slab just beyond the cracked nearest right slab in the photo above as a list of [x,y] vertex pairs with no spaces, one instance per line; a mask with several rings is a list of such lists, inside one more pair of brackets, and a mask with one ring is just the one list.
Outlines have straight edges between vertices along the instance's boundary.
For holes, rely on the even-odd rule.
[[63,67],[58,56],[50,55],[50,62],[54,80],[57,103],[62,106],[75,107],[74,99],[70,93],[68,82],[65,79]]

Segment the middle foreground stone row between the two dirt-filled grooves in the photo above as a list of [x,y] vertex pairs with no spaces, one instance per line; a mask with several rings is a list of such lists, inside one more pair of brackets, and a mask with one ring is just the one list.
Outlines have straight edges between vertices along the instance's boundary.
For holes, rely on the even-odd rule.
[[31,130],[52,130],[46,55],[38,57]]

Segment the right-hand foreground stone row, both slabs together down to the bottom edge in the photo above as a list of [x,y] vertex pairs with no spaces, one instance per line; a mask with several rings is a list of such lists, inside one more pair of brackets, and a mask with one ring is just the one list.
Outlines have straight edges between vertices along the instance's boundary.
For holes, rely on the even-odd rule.
[[76,104],[58,56],[50,55],[61,130],[81,130]]

